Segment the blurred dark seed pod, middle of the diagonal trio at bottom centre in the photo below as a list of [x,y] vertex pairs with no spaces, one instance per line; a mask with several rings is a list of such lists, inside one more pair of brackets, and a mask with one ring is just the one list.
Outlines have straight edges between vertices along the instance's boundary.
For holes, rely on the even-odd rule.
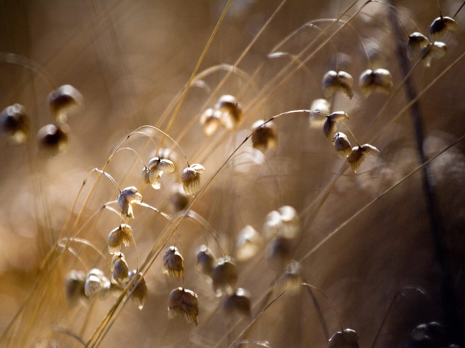
[[233,294],[237,282],[236,261],[229,256],[219,258],[212,268],[211,276],[216,296]]

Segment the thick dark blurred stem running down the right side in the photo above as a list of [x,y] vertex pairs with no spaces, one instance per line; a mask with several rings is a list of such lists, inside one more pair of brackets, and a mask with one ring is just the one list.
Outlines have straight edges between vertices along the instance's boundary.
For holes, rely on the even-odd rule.
[[[390,13],[390,21],[394,29],[395,37],[397,38],[397,54],[399,56],[400,66],[403,73],[407,74],[410,70],[410,64],[407,58],[405,44],[401,40],[401,38],[405,35],[398,20],[392,13]],[[417,96],[417,90],[413,84],[412,79],[407,79],[404,86],[406,97],[409,101],[412,101]],[[427,157],[424,151],[425,130],[423,127],[419,102],[417,101],[414,103],[410,110],[419,160],[421,163],[425,163],[425,161],[427,161]],[[434,247],[436,250],[436,257],[443,273],[442,284],[440,285],[440,296],[442,308],[444,311],[445,330],[453,342],[462,344],[463,338],[461,337],[461,333],[463,331],[460,328],[461,325],[457,313],[456,294],[453,287],[452,269],[447,257],[444,228],[443,224],[441,224],[441,216],[438,209],[437,197],[431,184],[431,171],[429,166],[422,168],[421,179],[423,191],[425,194],[426,208],[430,220],[431,232],[434,240]]]

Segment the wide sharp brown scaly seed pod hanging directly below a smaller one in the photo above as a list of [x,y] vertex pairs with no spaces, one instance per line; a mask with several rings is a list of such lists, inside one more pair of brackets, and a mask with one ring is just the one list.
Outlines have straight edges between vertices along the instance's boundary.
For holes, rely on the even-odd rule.
[[173,319],[178,314],[184,316],[186,321],[197,325],[199,319],[199,298],[191,291],[178,288],[171,291],[168,298],[168,317]]

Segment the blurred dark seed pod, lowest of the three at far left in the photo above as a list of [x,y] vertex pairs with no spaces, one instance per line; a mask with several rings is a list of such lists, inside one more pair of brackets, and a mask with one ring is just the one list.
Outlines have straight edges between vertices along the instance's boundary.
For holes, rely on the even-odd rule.
[[66,123],[53,122],[43,126],[37,132],[40,148],[49,155],[65,152],[68,147],[69,127]]

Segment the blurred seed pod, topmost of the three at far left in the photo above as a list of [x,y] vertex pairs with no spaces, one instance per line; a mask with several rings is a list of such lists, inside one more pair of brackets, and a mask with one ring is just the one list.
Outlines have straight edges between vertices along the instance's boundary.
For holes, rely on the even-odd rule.
[[79,110],[83,103],[82,94],[73,86],[65,84],[50,92],[47,97],[50,109],[59,122],[66,122],[67,116]]

